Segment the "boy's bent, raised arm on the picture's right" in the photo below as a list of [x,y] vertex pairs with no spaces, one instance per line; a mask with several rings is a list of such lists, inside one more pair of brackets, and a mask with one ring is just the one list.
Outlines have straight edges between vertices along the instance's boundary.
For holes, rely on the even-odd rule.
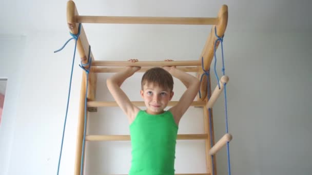
[[170,108],[171,113],[179,123],[181,117],[187,111],[188,107],[191,105],[200,90],[200,80],[197,77],[176,69],[175,67],[164,67],[164,69],[167,70],[173,77],[181,80],[187,88],[177,105]]

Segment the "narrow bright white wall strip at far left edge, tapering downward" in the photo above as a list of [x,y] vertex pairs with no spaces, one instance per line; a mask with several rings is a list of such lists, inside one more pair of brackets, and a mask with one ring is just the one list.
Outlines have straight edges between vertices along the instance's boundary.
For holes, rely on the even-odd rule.
[[24,57],[25,37],[0,35],[0,78],[8,79],[4,101],[4,111],[0,123],[0,169],[8,174],[10,153],[18,111],[19,86],[21,85],[22,58]]

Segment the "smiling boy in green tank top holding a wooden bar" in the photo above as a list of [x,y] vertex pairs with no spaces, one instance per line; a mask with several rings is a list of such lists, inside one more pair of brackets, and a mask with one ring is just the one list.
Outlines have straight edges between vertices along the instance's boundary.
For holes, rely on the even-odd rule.
[[[142,111],[130,102],[120,88],[128,77],[140,69],[127,67],[107,79],[108,90],[126,114],[130,125],[132,161],[129,175],[173,175],[179,122],[196,97],[200,81],[175,67],[146,71],[142,77],[140,93],[147,108]],[[173,96],[172,76],[180,79],[187,90],[175,106],[164,111]]]

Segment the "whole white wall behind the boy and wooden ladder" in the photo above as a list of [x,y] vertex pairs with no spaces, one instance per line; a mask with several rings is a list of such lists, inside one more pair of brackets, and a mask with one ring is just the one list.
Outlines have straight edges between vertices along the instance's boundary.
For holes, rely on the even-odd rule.
[[[100,34],[89,31],[86,25],[97,60],[133,57],[140,60],[198,59],[208,36],[203,27],[143,27],[147,32],[137,26],[130,30],[104,27],[105,32]],[[0,126],[0,141],[5,147],[0,149],[0,154],[4,155],[0,158],[4,164],[0,165],[8,169],[4,171],[5,175],[56,174],[73,41],[61,53],[53,51],[67,38],[69,35],[64,31],[52,35],[29,34],[25,39],[25,59],[20,66],[23,69],[17,76],[21,88],[11,86],[9,78],[7,93],[12,92],[14,97],[7,96],[6,102],[15,102],[5,102],[7,106]],[[229,130],[233,135],[230,143],[232,174],[312,172],[309,166],[312,154],[308,150],[312,143],[309,137],[312,129],[308,126],[312,122],[308,111],[312,99],[308,92],[312,85],[309,76],[312,73],[310,39],[311,33],[227,32],[224,49],[226,73],[230,77],[227,93]],[[7,45],[4,40],[0,42]],[[7,46],[14,50],[12,45]],[[7,51],[2,52],[13,54]],[[75,61],[60,174],[73,173],[81,81],[81,69],[77,64],[79,60]],[[5,68],[11,70],[14,67],[5,61]],[[218,71],[220,75],[221,70]],[[112,100],[105,86],[108,75],[99,76],[97,100]],[[122,86],[131,100],[140,100],[140,76],[141,73],[135,74]],[[212,79],[215,84],[215,78]],[[180,82],[175,83],[173,100],[178,100],[184,88]],[[16,104],[17,110],[14,111]],[[12,108],[11,112],[6,112],[6,108]],[[89,118],[88,134],[129,133],[127,121],[118,108],[98,110]],[[213,115],[218,140],[225,132],[222,98],[215,105]],[[12,121],[8,119],[11,116]],[[181,121],[179,133],[201,132],[201,109],[190,108]],[[86,150],[86,174],[127,173],[130,167],[129,142],[87,143]],[[218,174],[226,174],[225,149],[217,156]],[[204,172],[204,159],[202,141],[178,141],[177,172]]]

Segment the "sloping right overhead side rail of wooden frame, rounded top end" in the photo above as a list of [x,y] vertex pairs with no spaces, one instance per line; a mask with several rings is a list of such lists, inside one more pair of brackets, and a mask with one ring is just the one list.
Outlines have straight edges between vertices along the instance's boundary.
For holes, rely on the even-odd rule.
[[[202,60],[202,58],[204,59],[204,70],[206,71],[210,69],[210,64],[214,56],[214,42],[216,42],[217,40],[217,37],[214,34],[214,28],[216,27],[217,35],[220,37],[224,35],[225,30],[226,30],[227,19],[228,19],[228,9],[226,5],[222,5],[221,9],[219,10],[218,19],[219,19],[218,25],[213,25],[211,27],[210,34],[206,40],[204,49],[199,58],[200,61]],[[218,48],[218,46],[219,46],[219,41],[217,42],[216,49]],[[201,76],[203,73],[204,73],[203,70],[200,69],[200,71],[198,72],[198,77]],[[204,100],[205,96],[207,96],[207,79],[206,78],[202,80],[200,91],[202,95],[201,95],[201,98],[198,97],[198,99]]]

